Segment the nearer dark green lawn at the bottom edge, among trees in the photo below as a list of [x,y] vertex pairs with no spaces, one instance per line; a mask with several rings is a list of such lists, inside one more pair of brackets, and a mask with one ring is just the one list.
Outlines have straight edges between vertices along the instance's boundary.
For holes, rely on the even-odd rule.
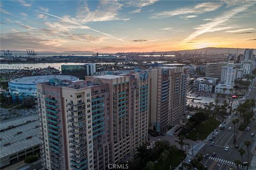
[[162,159],[159,159],[158,162],[155,164],[154,169],[169,170],[170,166],[172,166],[172,169],[175,169],[175,167],[177,167],[181,163],[181,160],[184,157],[186,157],[184,152],[177,152],[174,155],[170,153],[164,162],[164,168]]

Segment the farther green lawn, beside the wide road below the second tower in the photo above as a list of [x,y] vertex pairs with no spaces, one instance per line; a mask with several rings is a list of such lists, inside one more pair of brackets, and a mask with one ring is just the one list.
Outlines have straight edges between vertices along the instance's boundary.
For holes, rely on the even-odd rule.
[[197,133],[199,133],[199,139],[204,140],[218,125],[220,121],[211,117],[209,120],[202,122],[197,128],[191,131],[186,138],[196,141]]

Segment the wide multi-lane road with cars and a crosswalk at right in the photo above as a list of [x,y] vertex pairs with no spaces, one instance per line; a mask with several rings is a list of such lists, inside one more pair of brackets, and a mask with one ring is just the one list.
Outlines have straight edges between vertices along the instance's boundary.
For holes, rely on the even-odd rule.
[[[249,95],[246,96],[246,99],[252,99],[256,98],[256,83],[254,83],[254,87],[251,87],[251,91]],[[234,105],[234,103],[233,103]],[[254,117],[256,114],[254,113]],[[234,118],[234,116],[232,117]],[[209,158],[204,158],[202,163],[207,166],[208,168],[214,164],[214,162],[217,162],[217,164],[213,167],[214,170],[222,170],[222,169],[230,169],[230,168],[236,168],[236,165],[234,164],[234,161],[236,159],[241,160],[241,155],[238,152],[239,148],[243,148],[245,150],[245,154],[243,155],[243,162],[249,162],[251,163],[251,160],[253,158],[253,154],[251,153],[252,145],[255,141],[255,135],[254,137],[251,137],[251,133],[256,134],[256,120],[251,120],[248,127],[250,127],[250,131],[239,131],[237,141],[236,143],[233,143],[234,138],[234,125],[230,121],[227,123],[226,128],[223,130],[219,130],[219,134],[217,137],[213,140],[214,146],[210,145],[210,141],[208,141],[204,147],[199,151],[203,155],[209,154]],[[231,127],[232,130],[228,130],[228,127]],[[251,146],[249,147],[249,160],[247,160],[247,148],[244,145],[244,141],[250,140]],[[239,145],[239,148],[235,148],[235,145]],[[228,151],[225,151],[225,147],[228,146]],[[212,157],[213,152],[215,152],[217,155],[215,157]],[[241,168],[242,169],[242,168]]]

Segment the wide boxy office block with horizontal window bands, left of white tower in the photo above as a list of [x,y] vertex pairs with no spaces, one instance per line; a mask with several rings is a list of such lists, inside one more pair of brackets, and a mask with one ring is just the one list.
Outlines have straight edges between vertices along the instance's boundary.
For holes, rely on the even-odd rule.
[[221,78],[222,66],[227,65],[227,63],[207,63],[205,68],[206,78]]

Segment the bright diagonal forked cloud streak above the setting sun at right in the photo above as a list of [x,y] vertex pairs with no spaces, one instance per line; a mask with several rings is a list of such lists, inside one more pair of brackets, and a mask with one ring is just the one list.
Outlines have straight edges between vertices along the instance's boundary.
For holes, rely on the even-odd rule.
[[203,33],[220,31],[220,30],[232,28],[232,27],[219,27],[219,26],[228,22],[234,15],[236,15],[240,12],[246,11],[251,6],[253,6],[253,3],[238,4],[237,7],[233,8],[227,12],[222,13],[220,16],[217,16],[212,21],[196,27],[195,28],[196,31],[191,33],[191,35],[188,36],[187,38],[185,38],[183,41],[190,41],[190,40],[196,38],[197,36],[202,35]]

